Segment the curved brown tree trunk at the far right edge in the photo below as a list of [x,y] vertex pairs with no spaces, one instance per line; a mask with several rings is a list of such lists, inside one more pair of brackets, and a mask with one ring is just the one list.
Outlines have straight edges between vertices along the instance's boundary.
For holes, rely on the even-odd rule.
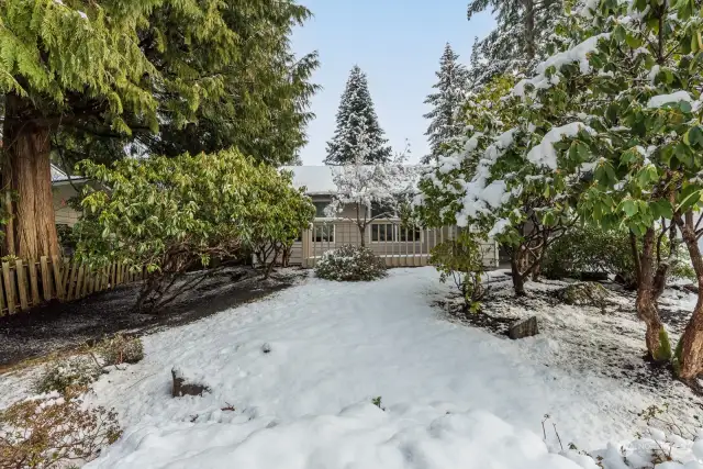
[[[693,224],[693,213],[685,214],[685,224],[678,215],[677,223],[681,228],[683,242],[689,248],[693,270],[699,282],[699,292],[703,291],[703,257],[695,236]],[[703,297],[699,293],[699,299],[693,309],[693,314],[685,331],[681,336],[681,350],[679,359],[679,376],[683,379],[692,379],[703,373]]]

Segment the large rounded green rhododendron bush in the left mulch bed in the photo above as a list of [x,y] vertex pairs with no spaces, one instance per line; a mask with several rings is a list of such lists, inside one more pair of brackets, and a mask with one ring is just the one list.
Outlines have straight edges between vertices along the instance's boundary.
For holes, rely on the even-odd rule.
[[86,160],[81,167],[110,190],[87,189],[83,216],[74,227],[77,255],[97,267],[146,267],[136,304],[146,312],[197,288],[207,272],[186,273],[211,267],[213,258],[248,258],[266,244],[280,252],[315,213],[290,172],[235,149],[125,158],[111,168]]

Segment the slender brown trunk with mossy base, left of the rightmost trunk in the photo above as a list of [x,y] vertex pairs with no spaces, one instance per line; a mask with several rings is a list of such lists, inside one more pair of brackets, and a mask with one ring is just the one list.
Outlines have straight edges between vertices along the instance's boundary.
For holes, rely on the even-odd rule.
[[655,361],[668,360],[671,357],[670,347],[667,344],[662,348],[662,336],[666,334],[659,310],[657,308],[657,286],[655,284],[654,272],[654,247],[655,247],[655,230],[649,227],[643,239],[643,252],[638,256],[640,271],[639,283],[637,286],[637,315],[647,325],[645,340],[647,343],[647,353]]

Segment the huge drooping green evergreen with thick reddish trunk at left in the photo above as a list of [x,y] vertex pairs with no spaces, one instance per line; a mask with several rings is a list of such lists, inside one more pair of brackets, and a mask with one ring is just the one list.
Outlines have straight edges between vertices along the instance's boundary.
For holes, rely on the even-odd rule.
[[58,254],[52,153],[70,165],[242,145],[292,159],[316,56],[295,63],[288,35],[308,15],[292,0],[0,2],[2,188],[16,196],[4,252]]

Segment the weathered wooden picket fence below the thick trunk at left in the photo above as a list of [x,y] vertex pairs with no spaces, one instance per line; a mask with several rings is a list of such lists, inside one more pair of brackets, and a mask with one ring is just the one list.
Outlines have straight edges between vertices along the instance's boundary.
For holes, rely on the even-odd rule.
[[112,264],[93,269],[58,256],[1,263],[0,316],[27,311],[51,300],[71,301],[141,280],[143,269]]

